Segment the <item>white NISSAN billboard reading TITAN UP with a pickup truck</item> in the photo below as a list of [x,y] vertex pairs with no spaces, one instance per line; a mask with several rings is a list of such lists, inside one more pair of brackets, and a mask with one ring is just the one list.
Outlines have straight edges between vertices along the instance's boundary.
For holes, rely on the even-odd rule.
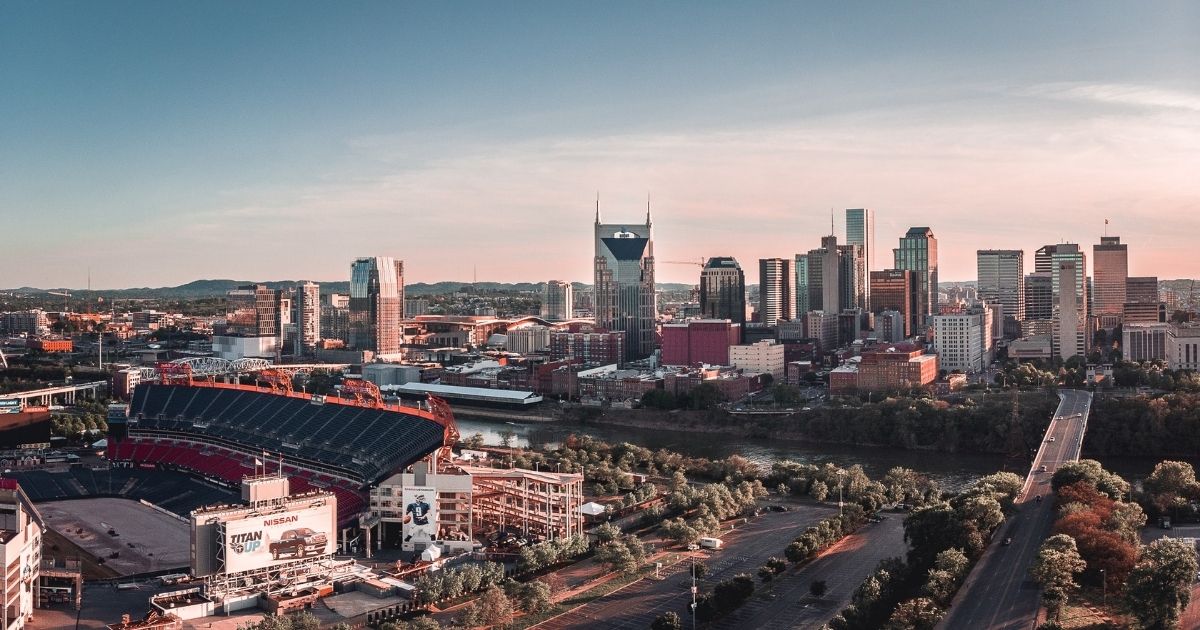
[[332,502],[226,522],[224,572],[236,574],[334,553]]

